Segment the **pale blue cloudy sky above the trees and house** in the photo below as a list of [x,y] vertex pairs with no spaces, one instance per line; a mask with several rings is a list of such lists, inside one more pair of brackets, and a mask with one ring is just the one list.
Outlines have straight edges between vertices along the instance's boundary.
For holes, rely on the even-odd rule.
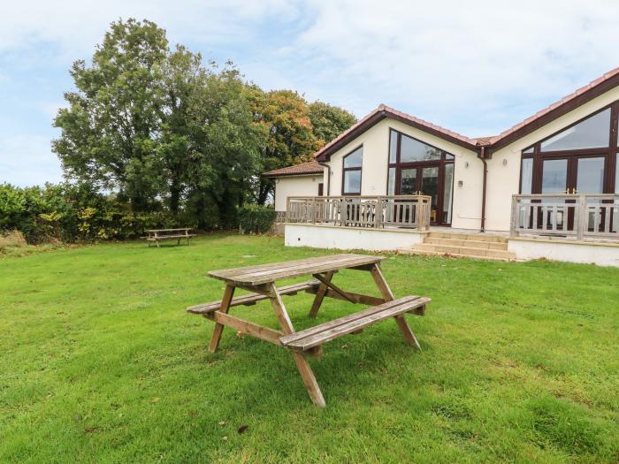
[[0,183],[58,182],[50,141],[73,61],[111,21],[232,60],[357,118],[385,103],[470,137],[528,118],[619,66],[616,0],[0,0]]

